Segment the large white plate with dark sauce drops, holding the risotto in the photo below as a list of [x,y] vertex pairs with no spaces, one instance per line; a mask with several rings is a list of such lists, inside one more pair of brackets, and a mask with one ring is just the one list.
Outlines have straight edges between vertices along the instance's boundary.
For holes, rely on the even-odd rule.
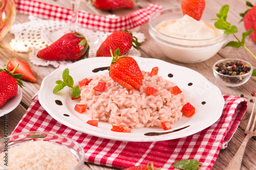
[[[188,128],[160,136],[144,135],[146,132],[164,131],[156,127],[132,129],[131,133],[113,132],[110,130],[112,125],[106,122],[99,122],[98,127],[86,123],[90,118],[86,114],[79,114],[74,110],[79,100],[71,100],[70,88],[65,87],[60,92],[53,94],[52,90],[56,85],[55,81],[62,80],[62,72],[65,68],[69,68],[74,84],[78,84],[78,81],[84,78],[91,79],[107,71],[93,72],[92,70],[109,66],[112,60],[111,57],[88,58],[54,70],[42,81],[38,93],[39,102],[54,119],[72,129],[102,138],[123,141],[160,141],[181,138],[211,126],[220,118],[224,107],[221,91],[201,74],[192,69],[158,59],[141,57],[134,57],[134,59],[138,62],[141,70],[151,71],[153,67],[158,66],[158,74],[164,79],[176,82],[183,93],[186,94],[187,102],[195,106],[196,113],[189,118],[182,116],[172,128],[174,130],[190,125]],[[173,77],[168,77],[168,74],[172,74]],[[189,83],[193,85],[189,86]],[[63,105],[57,105],[55,100],[60,100]],[[202,102],[205,102],[205,104]],[[63,114],[68,114],[69,116]]]

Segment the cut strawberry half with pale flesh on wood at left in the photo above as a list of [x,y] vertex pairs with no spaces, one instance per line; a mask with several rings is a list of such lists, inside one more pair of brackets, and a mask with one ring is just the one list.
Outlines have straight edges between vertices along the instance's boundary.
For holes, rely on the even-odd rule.
[[24,61],[19,60],[17,58],[9,60],[9,62],[7,64],[7,70],[12,71],[17,65],[19,65],[19,66],[16,69],[16,71],[14,72],[14,74],[22,74],[23,77],[21,79],[28,80],[30,82],[36,81],[36,78],[35,78],[33,72],[31,71],[29,65],[27,63],[25,63]]

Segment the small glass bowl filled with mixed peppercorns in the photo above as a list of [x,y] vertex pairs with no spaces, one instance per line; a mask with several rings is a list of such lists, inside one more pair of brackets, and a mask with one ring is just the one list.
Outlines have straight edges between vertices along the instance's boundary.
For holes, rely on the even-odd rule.
[[[239,63],[241,63],[241,64],[239,64],[239,65],[241,65],[241,67],[247,67],[248,72],[247,71],[246,71],[247,73],[243,72],[243,68],[242,68],[242,70],[240,70],[239,66],[237,66],[237,65],[236,65],[236,67],[238,68],[237,72],[236,72],[236,70],[229,72],[229,71],[231,71],[232,68],[231,67],[228,68],[226,65],[228,65],[227,63],[230,63],[230,61],[233,62],[231,64],[232,66],[230,65],[232,68],[234,67],[233,66],[234,63],[239,62]],[[225,71],[225,75],[216,70],[222,64],[225,65],[224,66],[225,68],[222,67],[224,70],[221,68],[221,70],[223,70],[223,72]],[[245,64],[246,66],[242,66],[243,64]],[[245,60],[235,59],[235,58],[227,58],[227,59],[219,60],[216,63],[214,63],[214,65],[212,66],[212,70],[214,71],[214,76],[217,78],[217,80],[220,83],[223,83],[224,85],[226,85],[228,87],[237,87],[237,86],[241,86],[242,84],[246,83],[250,79],[253,67],[249,62],[247,62]],[[241,71],[243,72],[242,75],[240,75],[240,73],[239,73]],[[228,72],[229,72],[229,75],[226,75],[226,74],[228,74]],[[234,72],[236,72],[236,73],[234,73]],[[234,76],[234,74],[236,74],[236,75]]]

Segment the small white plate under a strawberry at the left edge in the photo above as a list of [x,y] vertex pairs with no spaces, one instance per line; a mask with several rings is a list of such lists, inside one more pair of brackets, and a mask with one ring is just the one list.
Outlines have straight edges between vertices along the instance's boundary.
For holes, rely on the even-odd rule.
[[18,92],[14,98],[9,99],[2,107],[0,107],[0,117],[14,110],[19,105],[20,101],[22,101],[22,88],[18,86]]

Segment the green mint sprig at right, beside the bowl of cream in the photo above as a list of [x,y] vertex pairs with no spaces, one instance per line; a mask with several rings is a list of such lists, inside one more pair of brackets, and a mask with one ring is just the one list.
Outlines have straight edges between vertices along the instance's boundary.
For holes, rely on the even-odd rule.
[[233,34],[233,36],[237,39],[237,41],[228,42],[224,47],[232,46],[232,47],[238,48],[240,46],[243,46],[250,53],[250,55],[252,55],[252,57],[256,59],[256,56],[252,54],[252,52],[245,45],[245,37],[250,35],[253,32],[253,30],[248,30],[242,33],[242,40],[240,41],[238,37],[234,35],[235,33],[238,32],[238,28],[236,26],[231,26],[231,24],[227,21],[228,10],[229,10],[228,5],[222,6],[219,14],[216,14],[216,16],[219,19],[212,19],[212,20],[217,20],[214,24],[217,29],[224,30],[224,34]]

